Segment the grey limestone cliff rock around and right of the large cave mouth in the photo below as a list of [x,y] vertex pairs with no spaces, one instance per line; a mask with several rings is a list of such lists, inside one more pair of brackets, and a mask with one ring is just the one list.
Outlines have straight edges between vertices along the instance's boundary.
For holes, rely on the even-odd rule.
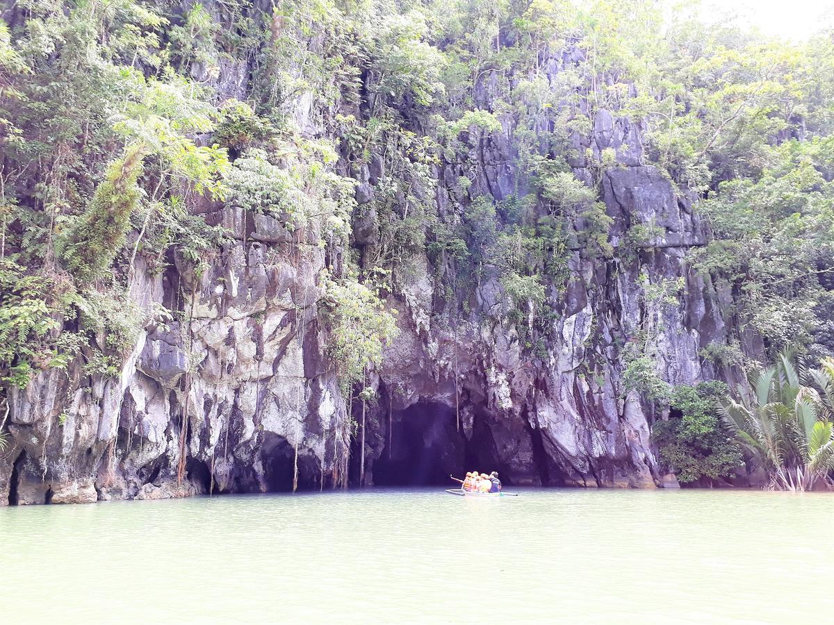
[[[686,252],[706,243],[706,232],[691,206],[656,168],[646,165],[640,128],[601,111],[585,146],[594,153],[614,148],[618,165],[603,174],[606,213],[614,219],[615,246],[636,224],[656,229],[656,238],[636,251],[631,263],[570,259],[570,282],[555,297],[546,358],[525,353],[515,328],[506,322],[505,298],[497,278],[477,288],[479,311],[445,327],[434,327],[430,310],[438,285],[426,274],[416,281],[400,309],[407,311],[402,334],[386,354],[379,373],[383,400],[374,409],[372,462],[384,471],[396,458],[419,456],[397,438],[421,436],[410,445],[445,448],[433,457],[445,471],[469,462],[497,466],[511,483],[654,488],[663,476],[650,440],[656,414],[651,402],[623,383],[624,350],[639,331],[651,337],[656,373],[671,384],[692,384],[724,376],[702,363],[699,350],[726,343],[733,328],[723,311],[731,296],[691,272]],[[493,163],[512,168],[510,154],[496,149]],[[590,179],[583,163],[576,173]],[[484,163],[481,184],[509,195],[513,172]],[[439,193],[439,198],[442,195]],[[681,305],[652,302],[641,283],[684,281]],[[449,325],[455,326],[453,331]],[[746,348],[759,346],[751,338]],[[455,384],[457,378],[457,384]],[[427,417],[425,414],[431,416]],[[460,434],[455,437],[456,415]],[[422,418],[420,433],[409,419]],[[442,428],[436,423],[440,419]],[[393,444],[391,432],[393,430]],[[394,454],[394,461],[390,455]],[[455,458],[457,460],[455,461]],[[667,477],[666,484],[676,485]]]

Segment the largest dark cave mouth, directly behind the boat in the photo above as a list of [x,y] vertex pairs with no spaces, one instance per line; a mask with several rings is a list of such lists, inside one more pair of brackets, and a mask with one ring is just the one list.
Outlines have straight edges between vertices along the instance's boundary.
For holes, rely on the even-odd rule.
[[392,417],[390,443],[386,440],[382,456],[374,461],[374,485],[453,486],[450,474],[462,476],[467,462],[455,409],[421,402]]

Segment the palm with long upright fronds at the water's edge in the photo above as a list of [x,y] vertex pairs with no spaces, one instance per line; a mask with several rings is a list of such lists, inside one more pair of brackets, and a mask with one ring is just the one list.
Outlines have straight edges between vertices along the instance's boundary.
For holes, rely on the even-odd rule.
[[[834,469],[834,359],[797,369],[794,354],[753,373],[752,393],[721,403],[724,422],[771,477],[769,488],[810,490]],[[811,386],[813,385],[813,386]]]

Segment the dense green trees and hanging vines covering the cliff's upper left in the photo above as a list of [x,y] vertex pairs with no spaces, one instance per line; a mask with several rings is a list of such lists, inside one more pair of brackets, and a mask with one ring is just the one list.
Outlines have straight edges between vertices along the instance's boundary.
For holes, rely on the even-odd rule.
[[[210,230],[169,208],[194,193],[221,196],[228,161],[194,140],[221,115],[164,60],[169,21],[158,9],[133,0],[18,7],[11,28],[0,23],[0,333],[11,350],[0,375],[23,386],[84,350],[88,360],[104,350],[118,372],[143,323],[141,311],[127,314],[127,266],[148,252],[163,265],[168,247],[192,248]],[[103,296],[118,310],[99,305]]]

